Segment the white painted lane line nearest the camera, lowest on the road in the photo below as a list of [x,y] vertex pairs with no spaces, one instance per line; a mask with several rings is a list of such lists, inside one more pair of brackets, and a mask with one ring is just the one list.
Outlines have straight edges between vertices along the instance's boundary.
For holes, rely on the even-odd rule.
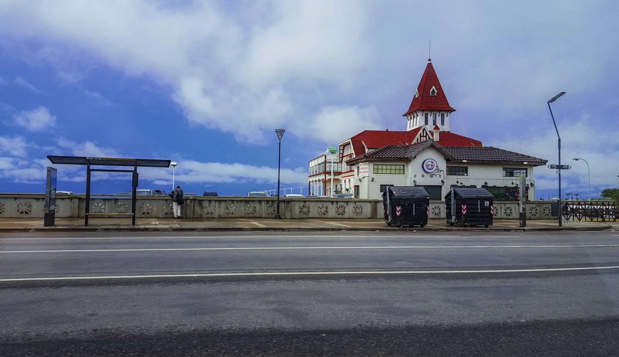
[[53,278],[8,278],[0,282],[27,282],[45,280],[96,280],[96,279],[137,279],[137,278],[197,278],[197,277],[259,277],[272,275],[394,275],[394,274],[475,274],[475,273],[533,273],[533,272],[567,272],[576,270],[619,269],[613,267],[580,267],[552,269],[509,269],[509,270],[402,270],[402,271],[366,271],[366,272],[264,272],[264,273],[203,273],[203,274],[169,274],[169,275],[111,275],[106,277],[53,277]]

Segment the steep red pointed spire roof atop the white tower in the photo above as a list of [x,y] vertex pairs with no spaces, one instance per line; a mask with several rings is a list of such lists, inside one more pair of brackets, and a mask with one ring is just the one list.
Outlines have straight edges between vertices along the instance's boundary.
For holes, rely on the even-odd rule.
[[[436,88],[436,95],[430,95],[432,87]],[[407,116],[407,114],[415,110],[455,111],[447,101],[447,97],[445,96],[445,92],[443,92],[443,87],[441,87],[441,82],[438,80],[438,76],[434,71],[430,58],[428,58],[428,64],[426,65],[425,71],[423,71],[422,80],[420,80],[419,85],[417,85],[417,92],[419,95],[415,93],[413,100],[410,102],[409,111],[404,113],[403,116]]]

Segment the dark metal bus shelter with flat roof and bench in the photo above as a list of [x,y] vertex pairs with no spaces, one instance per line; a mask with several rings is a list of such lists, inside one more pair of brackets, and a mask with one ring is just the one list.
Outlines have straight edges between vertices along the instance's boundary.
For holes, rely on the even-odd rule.
[[[78,156],[52,156],[48,160],[57,165],[86,165],[86,209],[84,213],[84,225],[88,225],[89,216],[93,215],[131,215],[131,224],[136,224],[136,188],[138,183],[138,167],[170,167],[170,160],[155,160],[148,158],[107,158],[107,157],[78,157]],[[92,168],[91,166],[121,166],[131,167],[128,169]],[[103,172],[126,172],[131,173],[131,213],[90,213],[90,174],[93,171]]]

